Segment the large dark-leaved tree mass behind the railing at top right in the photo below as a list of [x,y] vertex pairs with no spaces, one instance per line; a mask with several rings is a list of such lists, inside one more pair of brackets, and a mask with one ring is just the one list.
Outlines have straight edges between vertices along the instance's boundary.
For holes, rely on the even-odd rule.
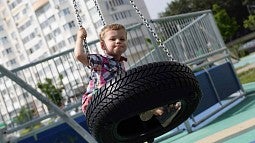
[[[168,4],[165,12],[160,13],[161,17],[190,13],[195,11],[209,10],[213,9],[213,5],[217,4],[222,9],[225,9],[229,17],[235,18],[237,24],[239,25],[238,30],[234,35],[227,39],[237,38],[242,35],[247,34],[246,30],[242,25],[243,21],[248,17],[249,13],[244,2],[245,0],[174,0]],[[246,0],[248,2],[254,0]]]

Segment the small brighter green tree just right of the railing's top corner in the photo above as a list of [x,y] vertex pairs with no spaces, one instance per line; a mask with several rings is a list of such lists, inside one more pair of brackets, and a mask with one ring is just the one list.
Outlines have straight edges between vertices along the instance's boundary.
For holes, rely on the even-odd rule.
[[217,4],[213,5],[214,18],[221,32],[223,39],[226,41],[231,38],[238,29],[238,24],[235,18],[229,17],[225,9],[222,9]]

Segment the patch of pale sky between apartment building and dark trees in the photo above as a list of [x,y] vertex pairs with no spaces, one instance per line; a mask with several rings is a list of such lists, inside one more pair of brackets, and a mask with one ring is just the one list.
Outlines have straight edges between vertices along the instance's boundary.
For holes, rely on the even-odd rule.
[[151,19],[159,18],[158,13],[164,12],[167,3],[171,3],[171,1],[173,0],[144,0]]

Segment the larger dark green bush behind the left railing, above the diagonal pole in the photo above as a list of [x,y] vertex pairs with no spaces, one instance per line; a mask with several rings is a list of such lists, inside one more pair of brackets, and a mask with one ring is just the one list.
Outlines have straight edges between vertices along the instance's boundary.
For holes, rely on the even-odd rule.
[[59,75],[58,85],[55,86],[52,82],[52,79],[45,78],[44,83],[37,83],[38,88],[46,94],[46,96],[57,106],[61,107],[63,105],[62,90],[64,85],[62,82],[63,76]]

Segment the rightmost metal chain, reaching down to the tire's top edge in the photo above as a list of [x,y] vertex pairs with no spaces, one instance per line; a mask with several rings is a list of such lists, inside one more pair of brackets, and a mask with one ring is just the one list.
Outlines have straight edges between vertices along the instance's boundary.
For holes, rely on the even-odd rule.
[[156,41],[159,43],[159,47],[163,49],[163,51],[166,53],[167,57],[170,59],[170,61],[175,61],[173,58],[173,55],[170,54],[168,49],[165,47],[164,43],[162,40],[158,37],[157,33],[151,28],[149,22],[147,19],[144,18],[143,14],[141,11],[138,9],[138,7],[135,5],[133,0],[129,0],[130,4],[133,6],[133,8],[136,10],[136,13],[139,15],[141,20],[143,21],[143,24],[146,26],[146,28],[152,33],[153,37],[156,39]]

